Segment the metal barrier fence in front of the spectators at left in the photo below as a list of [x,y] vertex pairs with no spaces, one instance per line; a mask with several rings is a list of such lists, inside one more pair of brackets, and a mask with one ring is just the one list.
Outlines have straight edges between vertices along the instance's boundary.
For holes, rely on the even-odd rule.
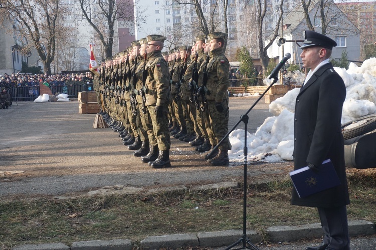
[[[93,84],[69,85],[69,86],[51,86],[51,93],[65,93],[69,98],[77,98],[78,92],[94,91]],[[12,100],[15,101],[34,101],[40,94],[39,86],[35,87],[10,87],[8,89]]]

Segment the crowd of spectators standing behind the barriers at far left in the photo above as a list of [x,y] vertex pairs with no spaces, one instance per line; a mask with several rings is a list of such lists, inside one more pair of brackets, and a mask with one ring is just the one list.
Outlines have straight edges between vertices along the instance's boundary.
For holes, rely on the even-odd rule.
[[0,88],[6,88],[14,98],[32,100],[39,96],[39,86],[48,86],[52,94],[57,92],[77,95],[92,91],[93,76],[90,72],[79,74],[22,74],[0,75]]

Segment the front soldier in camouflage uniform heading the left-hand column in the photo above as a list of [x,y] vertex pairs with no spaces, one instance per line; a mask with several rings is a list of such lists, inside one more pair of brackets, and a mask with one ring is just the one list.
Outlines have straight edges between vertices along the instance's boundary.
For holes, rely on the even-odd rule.
[[171,166],[169,151],[171,146],[168,130],[168,104],[171,98],[167,62],[161,50],[165,37],[149,35],[147,38],[148,63],[146,65],[146,106],[150,113],[153,130],[158,142],[159,155],[152,162],[153,168]]

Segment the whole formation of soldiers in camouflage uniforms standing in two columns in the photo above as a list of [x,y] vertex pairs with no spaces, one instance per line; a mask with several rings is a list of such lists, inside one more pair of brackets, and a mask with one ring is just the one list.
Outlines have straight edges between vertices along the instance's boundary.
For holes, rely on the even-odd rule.
[[162,53],[165,37],[149,35],[102,63],[94,79],[100,114],[134,156],[171,166],[170,136],[189,142],[211,165],[228,166],[227,35],[196,37],[193,46]]

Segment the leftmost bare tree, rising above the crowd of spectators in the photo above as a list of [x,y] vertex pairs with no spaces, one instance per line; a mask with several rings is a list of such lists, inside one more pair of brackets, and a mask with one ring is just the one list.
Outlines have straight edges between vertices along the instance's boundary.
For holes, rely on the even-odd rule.
[[59,0],[0,0],[0,6],[0,18],[16,19],[20,24],[17,31],[30,42],[25,44],[22,52],[27,54],[35,48],[43,62],[44,72],[51,74],[56,37],[66,30],[58,22],[64,14]]

